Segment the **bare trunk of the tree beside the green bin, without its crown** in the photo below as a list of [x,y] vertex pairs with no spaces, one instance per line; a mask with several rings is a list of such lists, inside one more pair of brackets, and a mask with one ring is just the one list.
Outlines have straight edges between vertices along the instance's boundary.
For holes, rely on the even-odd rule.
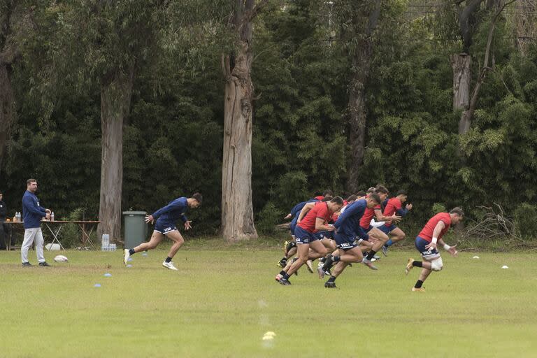
[[121,237],[121,194],[123,181],[123,121],[128,115],[134,70],[117,74],[101,87],[101,194],[97,236]]

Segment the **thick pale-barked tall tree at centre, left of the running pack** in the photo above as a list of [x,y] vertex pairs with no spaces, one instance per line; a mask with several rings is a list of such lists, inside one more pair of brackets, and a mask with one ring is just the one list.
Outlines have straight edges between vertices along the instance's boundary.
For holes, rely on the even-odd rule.
[[268,0],[233,1],[229,29],[234,50],[222,55],[224,152],[222,159],[222,235],[227,241],[257,238],[252,208],[252,112],[254,85],[252,21]]

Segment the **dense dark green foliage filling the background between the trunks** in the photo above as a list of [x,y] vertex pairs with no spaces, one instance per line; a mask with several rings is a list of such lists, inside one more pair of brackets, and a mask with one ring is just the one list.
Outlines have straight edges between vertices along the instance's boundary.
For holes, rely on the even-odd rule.
[[[58,34],[68,33],[71,22],[64,18],[62,1],[53,3],[34,10],[38,26],[25,33],[22,56],[10,69],[17,122],[0,169],[0,189],[14,213],[25,180],[35,177],[43,204],[57,217],[78,208],[96,217],[100,91],[90,79],[133,59],[121,59],[118,48],[106,56],[84,52],[84,71],[80,63],[76,73],[69,73],[69,63],[59,67],[66,40]],[[471,131],[459,136],[449,55],[459,52],[461,43],[445,41],[450,31],[434,31],[438,22],[452,27],[453,19],[409,17],[407,3],[387,1],[374,35],[361,187],[382,182],[392,192],[407,189],[415,203],[409,220],[417,223],[435,203],[462,206],[477,217],[478,206],[494,201],[524,222],[520,213],[534,210],[537,196],[537,48],[529,46],[522,55],[510,22],[496,27],[494,71],[482,87]],[[352,194],[345,192],[350,60],[332,10],[324,1],[289,1],[285,8],[271,1],[255,22],[252,188],[262,231],[271,231],[295,203],[323,189]],[[485,49],[486,19],[473,39],[476,68]],[[201,191],[203,208],[192,215],[199,222],[196,229],[216,232],[224,103],[220,56],[227,40],[205,32],[210,38],[205,43],[196,31],[168,31],[174,21],[182,24],[180,19],[162,21],[159,29],[147,29],[162,41],[136,59],[144,65],[124,127],[122,206],[151,212],[176,196]],[[103,24],[102,31],[114,25],[120,26]],[[212,29],[206,23],[200,28]],[[66,55],[78,56],[77,51]]]

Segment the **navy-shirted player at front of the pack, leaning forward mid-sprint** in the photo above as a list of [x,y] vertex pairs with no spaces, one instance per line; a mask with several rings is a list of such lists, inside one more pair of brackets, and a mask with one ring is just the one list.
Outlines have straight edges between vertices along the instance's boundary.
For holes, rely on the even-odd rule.
[[[376,193],[371,193],[366,199],[360,199],[350,204],[345,208],[343,213],[339,215],[338,220],[334,222],[336,234],[334,239],[338,250],[338,255],[327,257],[324,266],[320,269],[319,275],[323,276],[324,271],[331,268],[332,264],[336,263],[334,271],[324,287],[335,288],[336,278],[340,275],[348,264],[354,262],[362,262],[364,255],[361,253],[357,238],[365,239],[367,234],[360,227],[360,219],[364,215],[366,208],[373,208],[380,204],[380,197]],[[322,270],[322,271],[321,271]]]

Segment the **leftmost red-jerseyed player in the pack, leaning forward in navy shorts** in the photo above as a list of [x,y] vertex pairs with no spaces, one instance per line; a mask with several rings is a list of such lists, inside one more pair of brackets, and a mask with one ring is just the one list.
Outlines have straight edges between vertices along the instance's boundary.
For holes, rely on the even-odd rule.
[[[276,280],[282,285],[290,285],[289,276],[297,271],[309,259],[317,259],[327,255],[327,249],[315,235],[317,231],[334,231],[334,226],[328,222],[336,211],[341,210],[343,199],[336,196],[331,201],[321,201],[315,203],[312,209],[308,211],[306,206],[302,209],[299,216],[299,224],[294,229],[296,238],[296,247],[298,249],[298,259],[286,271],[281,271]],[[303,213],[307,214],[304,216]],[[303,219],[301,218],[303,216]],[[312,251],[310,252],[310,248]]]

